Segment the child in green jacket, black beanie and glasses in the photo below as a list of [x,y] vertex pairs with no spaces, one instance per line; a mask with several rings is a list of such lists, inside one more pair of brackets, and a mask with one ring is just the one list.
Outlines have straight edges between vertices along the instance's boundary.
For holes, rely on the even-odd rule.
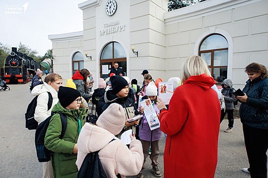
[[53,151],[52,166],[55,178],[77,177],[77,139],[87,116],[87,108],[80,108],[81,94],[70,87],[59,87],[59,102],[52,112],[61,112],[67,117],[67,127],[62,139],[61,118],[59,114],[52,116],[45,134],[45,147]]

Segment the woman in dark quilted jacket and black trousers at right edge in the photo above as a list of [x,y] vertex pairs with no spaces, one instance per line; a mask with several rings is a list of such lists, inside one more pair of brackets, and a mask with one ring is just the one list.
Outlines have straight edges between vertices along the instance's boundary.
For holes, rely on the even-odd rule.
[[241,101],[239,111],[250,164],[249,168],[242,170],[250,173],[251,177],[267,177],[268,82],[265,80],[267,70],[263,65],[251,63],[245,72],[249,76],[243,88],[245,95],[236,97]]

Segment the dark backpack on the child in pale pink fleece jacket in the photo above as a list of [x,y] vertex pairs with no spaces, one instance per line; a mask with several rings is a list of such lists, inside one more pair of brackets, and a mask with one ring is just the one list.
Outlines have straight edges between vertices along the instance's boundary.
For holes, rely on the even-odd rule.
[[[111,141],[113,140],[115,139],[112,139]],[[99,151],[89,153],[85,157],[79,169],[77,178],[85,178],[85,177],[94,177],[94,178],[106,178],[107,177],[106,173],[104,172],[100,158],[99,158]],[[118,174],[117,177],[121,177],[120,174]]]

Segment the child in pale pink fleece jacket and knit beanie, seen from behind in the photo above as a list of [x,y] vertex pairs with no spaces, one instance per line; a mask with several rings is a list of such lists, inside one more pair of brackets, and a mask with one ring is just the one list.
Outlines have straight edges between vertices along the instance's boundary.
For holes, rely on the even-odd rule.
[[125,108],[112,103],[100,115],[96,125],[84,125],[77,142],[78,169],[88,153],[100,151],[99,158],[107,177],[116,177],[118,174],[125,177],[139,173],[143,158],[140,141],[129,135],[131,143],[128,148],[121,140],[113,140],[124,128],[125,117]]

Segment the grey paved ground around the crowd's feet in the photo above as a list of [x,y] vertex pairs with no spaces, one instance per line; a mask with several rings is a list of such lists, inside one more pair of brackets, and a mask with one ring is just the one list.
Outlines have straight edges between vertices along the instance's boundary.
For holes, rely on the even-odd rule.
[[[0,177],[42,177],[42,164],[37,160],[34,146],[35,131],[25,128],[24,114],[33,99],[29,93],[30,83],[9,86],[10,91],[0,92]],[[220,129],[215,177],[250,177],[241,171],[241,168],[248,166],[248,160],[239,119],[235,119],[232,133],[224,132],[227,127],[228,121],[224,120]],[[162,175],[164,143],[163,136],[159,158]],[[149,158],[144,177],[155,177]]]

